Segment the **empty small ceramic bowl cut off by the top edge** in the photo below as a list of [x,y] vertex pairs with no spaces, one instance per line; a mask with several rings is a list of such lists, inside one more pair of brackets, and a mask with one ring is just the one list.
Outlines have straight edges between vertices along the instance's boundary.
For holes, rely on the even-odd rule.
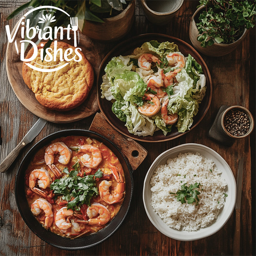
[[184,0],[141,0],[142,8],[151,23],[162,26],[175,16]]

